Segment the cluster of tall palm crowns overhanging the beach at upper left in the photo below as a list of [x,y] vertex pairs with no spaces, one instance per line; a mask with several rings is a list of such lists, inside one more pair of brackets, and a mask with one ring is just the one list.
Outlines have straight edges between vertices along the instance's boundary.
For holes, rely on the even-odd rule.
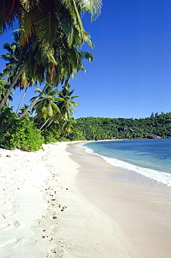
[[85,70],[83,59],[92,61],[93,56],[80,49],[84,43],[91,47],[93,43],[81,16],[90,13],[94,20],[100,11],[101,0],[1,0],[0,33],[13,28],[14,23],[18,29],[14,42],[3,45],[8,50],[1,56],[8,61],[3,75],[9,84],[8,91],[1,95],[0,110],[15,86],[24,89],[45,81],[45,90],[49,85],[63,84],[65,79],[68,82],[71,76]]

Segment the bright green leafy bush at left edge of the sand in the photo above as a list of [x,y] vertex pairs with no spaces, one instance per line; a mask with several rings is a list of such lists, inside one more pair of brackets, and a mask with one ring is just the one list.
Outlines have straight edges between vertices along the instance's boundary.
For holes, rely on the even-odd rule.
[[0,114],[0,146],[5,149],[38,151],[42,149],[44,137],[33,122],[19,120],[10,107],[3,107]]

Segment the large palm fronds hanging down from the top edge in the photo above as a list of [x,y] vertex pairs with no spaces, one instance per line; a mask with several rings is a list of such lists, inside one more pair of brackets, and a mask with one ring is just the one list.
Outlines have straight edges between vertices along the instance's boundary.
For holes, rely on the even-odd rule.
[[0,32],[13,27],[17,18],[22,29],[22,45],[36,35],[40,43],[52,46],[61,31],[70,46],[78,45],[89,39],[81,14],[91,13],[95,20],[100,11],[101,0],[1,0]]

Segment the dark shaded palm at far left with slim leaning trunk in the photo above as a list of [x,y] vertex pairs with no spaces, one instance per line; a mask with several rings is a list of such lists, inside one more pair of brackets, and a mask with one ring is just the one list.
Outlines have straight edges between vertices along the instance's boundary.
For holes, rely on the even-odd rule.
[[[23,89],[24,86],[31,86],[33,81],[35,84],[37,81],[41,83],[44,80],[46,67],[43,63],[41,63],[41,61],[38,62],[35,59],[35,56],[38,59],[38,44],[36,44],[35,40],[33,39],[32,43],[30,43],[31,47],[29,44],[26,47],[22,47],[19,43],[19,35],[20,32],[17,30],[14,33],[15,41],[12,44],[5,43],[3,45],[3,47],[8,50],[8,53],[2,54],[1,57],[9,62],[6,63],[6,67],[3,68],[3,73],[8,76],[11,84],[6,92],[6,96],[4,96],[1,100],[0,110],[6,102],[6,99],[8,98],[13,87],[19,86],[20,89]],[[26,112],[28,111],[29,110],[26,110]]]

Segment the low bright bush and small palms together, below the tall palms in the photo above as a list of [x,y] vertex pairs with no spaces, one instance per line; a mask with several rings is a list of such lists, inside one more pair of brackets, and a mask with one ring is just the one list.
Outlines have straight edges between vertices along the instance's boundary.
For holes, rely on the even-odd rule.
[[[41,91],[35,89],[36,93]],[[60,91],[47,87],[31,112],[27,112],[22,119],[19,117],[28,108],[27,105],[19,109],[18,114],[8,105],[3,106],[0,114],[0,146],[37,151],[43,143],[68,140],[66,137],[76,126],[72,113],[79,105],[74,102],[77,96],[72,96],[72,93],[74,90],[70,91],[68,83]]]

